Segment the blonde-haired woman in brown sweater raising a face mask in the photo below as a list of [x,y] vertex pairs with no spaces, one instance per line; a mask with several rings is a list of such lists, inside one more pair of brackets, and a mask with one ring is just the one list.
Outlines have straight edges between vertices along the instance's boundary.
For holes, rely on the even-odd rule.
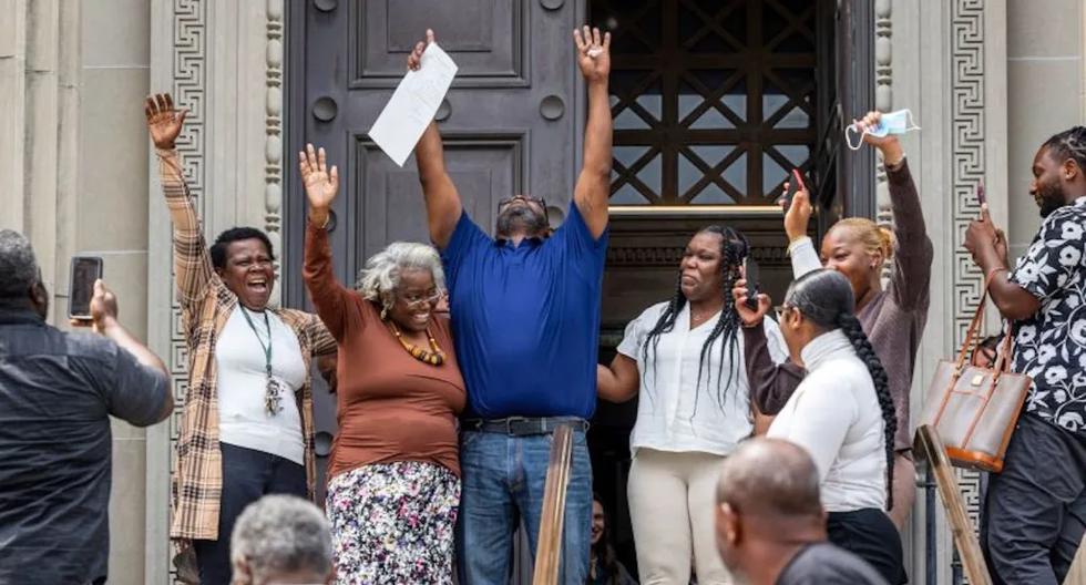
[[[823,266],[848,278],[856,297],[856,316],[885,366],[890,393],[898,409],[898,434],[894,437],[894,476],[898,482],[893,490],[898,505],[890,517],[900,528],[904,526],[916,497],[909,390],[912,388],[920,340],[928,322],[934,253],[924,225],[920,195],[898,136],[890,134],[879,137],[865,132],[878,125],[880,119],[879,112],[870,112],[856,124],[863,133],[863,142],[882,154],[893,230],[864,217],[849,217],[834,224],[822,238],[820,248],[817,248],[807,236],[812,207],[810,194],[801,185],[785,214],[785,232],[788,234],[788,253],[792,258],[795,278]],[[888,263],[889,279],[883,285]],[[738,300],[745,295],[746,289],[740,280],[735,297]],[[751,335],[744,337],[751,394],[764,413],[775,414],[803,378],[803,368],[795,361],[775,363],[758,335],[758,319],[741,316],[744,325],[755,327]]]

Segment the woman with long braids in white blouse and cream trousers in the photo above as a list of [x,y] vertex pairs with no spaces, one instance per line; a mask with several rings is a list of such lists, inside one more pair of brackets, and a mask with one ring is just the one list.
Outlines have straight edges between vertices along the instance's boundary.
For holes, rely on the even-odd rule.
[[[749,254],[731,228],[708,226],[690,239],[670,300],[626,327],[611,367],[601,366],[600,396],[641,394],[629,437],[629,514],[642,583],[729,583],[716,551],[713,515],[717,472],[754,430],[742,368],[739,316],[730,290]],[[769,351],[782,361],[783,339],[765,321]],[[746,330],[742,330],[746,332]]]

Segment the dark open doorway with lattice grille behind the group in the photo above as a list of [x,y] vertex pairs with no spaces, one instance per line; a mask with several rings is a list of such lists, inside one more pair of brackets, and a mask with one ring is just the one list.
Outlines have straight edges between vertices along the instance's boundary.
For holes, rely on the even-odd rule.
[[[853,209],[854,197],[871,196],[871,179],[849,176],[853,157],[838,147],[843,112],[865,111],[839,100],[856,86],[853,61],[870,54],[857,53],[852,35],[873,23],[852,23],[851,10],[832,0],[590,1],[588,21],[613,37],[602,362],[614,357],[631,319],[672,296],[682,250],[706,225],[742,232],[762,289],[780,298],[791,267],[775,201],[791,168],[814,185],[822,224]],[[872,166],[861,166],[872,175]],[[602,401],[590,435],[595,489],[631,571],[626,480],[636,413],[636,400]]]

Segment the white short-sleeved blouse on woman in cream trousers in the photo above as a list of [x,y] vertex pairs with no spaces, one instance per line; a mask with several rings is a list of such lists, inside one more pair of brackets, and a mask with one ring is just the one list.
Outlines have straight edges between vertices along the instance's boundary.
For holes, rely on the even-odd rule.
[[[658,451],[730,454],[752,430],[742,338],[737,337],[734,348],[726,351],[723,369],[720,347],[726,341],[723,337],[714,340],[701,366],[701,346],[720,314],[690,329],[687,304],[676,317],[675,327],[659,336],[655,352],[654,343],[649,343],[646,358],[645,338],[666,308],[667,302],[660,302],[642,312],[626,326],[626,335],[618,345],[619,353],[637,361],[641,376],[631,451],[636,454],[637,449],[645,447]],[[765,319],[764,324],[769,352],[780,363],[788,357],[780,329],[772,319]],[[740,326],[737,336],[741,335]]]

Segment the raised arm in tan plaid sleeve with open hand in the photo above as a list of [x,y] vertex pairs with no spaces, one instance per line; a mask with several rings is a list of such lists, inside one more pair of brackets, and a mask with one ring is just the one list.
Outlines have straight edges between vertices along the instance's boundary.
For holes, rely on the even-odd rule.
[[187,113],[187,110],[174,107],[168,93],[147,98],[144,104],[147,131],[158,156],[158,181],[173,223],[174,277],[183,305],[192,305],[204,298],[214,275],[196,207],[188,193],[177,151],[174,150]]

